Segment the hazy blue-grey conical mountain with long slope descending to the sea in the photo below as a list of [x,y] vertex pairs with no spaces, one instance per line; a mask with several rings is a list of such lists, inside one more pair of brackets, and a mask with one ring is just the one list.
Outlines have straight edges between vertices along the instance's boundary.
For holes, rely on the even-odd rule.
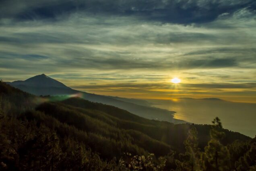
[[[43,81],[41,80],[43,79]],[[50,80],[50,81],[49,81]],[[42,83],[43,82],[43,83]],[[74,90],[72,88],[67,87],[63,83],[48,77],[45,74],[36,75],[25,81],[13,81],[6,82],[12,85],[15,88],[23,90],[25,92],[40,96],[60,96],[60,95],[72,95],[72,94],[80,94],[81,98],[85,100],[89,100],[91,102],[98,102],[102,104],[107,104],[111,106],[116,106],[118,108],[127,110],[133,114],[138,116],[154,119],[154,120],[162,120],[168,121],[172,123],[186,123],[184,120],[174,119],[173,115],[174,111],[169,111],[165,109],[155,108],[151,106],[143,106],[140,104],[132,103],[132,99],[112,97],[112,96],[102,96],[97,94],[91,94],[87,92],[82,92],[78,90]],[[43,86],[42,86],[43,85]],[[57,87],[55,86],[57,85]]]

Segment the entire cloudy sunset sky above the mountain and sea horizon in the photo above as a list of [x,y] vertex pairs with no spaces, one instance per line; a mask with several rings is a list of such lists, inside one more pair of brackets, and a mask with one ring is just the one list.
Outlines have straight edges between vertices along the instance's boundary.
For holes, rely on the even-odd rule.
[[42,73],[95,94],[256,103],[256,1],[0,0],[0,78]]

